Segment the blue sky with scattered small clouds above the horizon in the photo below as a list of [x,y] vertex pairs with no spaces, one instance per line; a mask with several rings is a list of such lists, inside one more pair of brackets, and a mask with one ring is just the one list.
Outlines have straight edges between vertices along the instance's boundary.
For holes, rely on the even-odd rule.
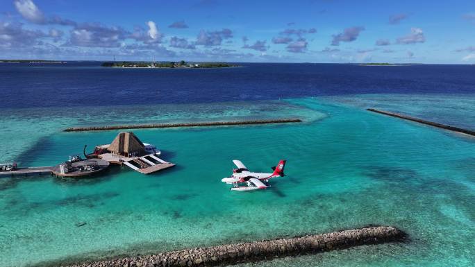
[[0,0],[0,58],[475,63],[475,1]]

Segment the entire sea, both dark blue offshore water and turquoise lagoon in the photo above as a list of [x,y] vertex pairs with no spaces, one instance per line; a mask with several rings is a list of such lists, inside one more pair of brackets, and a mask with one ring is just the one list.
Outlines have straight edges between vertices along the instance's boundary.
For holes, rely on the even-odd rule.
[[[240,266],[474,266],[475,139],[365,111],[475,129],[475,67],[242,64],[108,69],[0,64],[0,162],[49,166],[119,131],[67,127],[297,117],[266,126],[134,130],[173,169],[89,180],[0,178],[0,267],[322,233],[369,224],[401,244]],[[253,193],[221,178],[239,159],[286,177]],[[86,223],[78,227],[78,223]]]

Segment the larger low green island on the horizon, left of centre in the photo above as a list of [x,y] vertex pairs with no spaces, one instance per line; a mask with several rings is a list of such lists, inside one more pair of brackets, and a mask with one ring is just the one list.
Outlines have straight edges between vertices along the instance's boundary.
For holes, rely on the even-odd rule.
[[120,61],[120,62],[103,62],[102,67],[117,68],[182,68],[182,69],[205,69],[205,68],[227,68],[239,67],[236,64],[226,62],[143,62],[143,61]]

